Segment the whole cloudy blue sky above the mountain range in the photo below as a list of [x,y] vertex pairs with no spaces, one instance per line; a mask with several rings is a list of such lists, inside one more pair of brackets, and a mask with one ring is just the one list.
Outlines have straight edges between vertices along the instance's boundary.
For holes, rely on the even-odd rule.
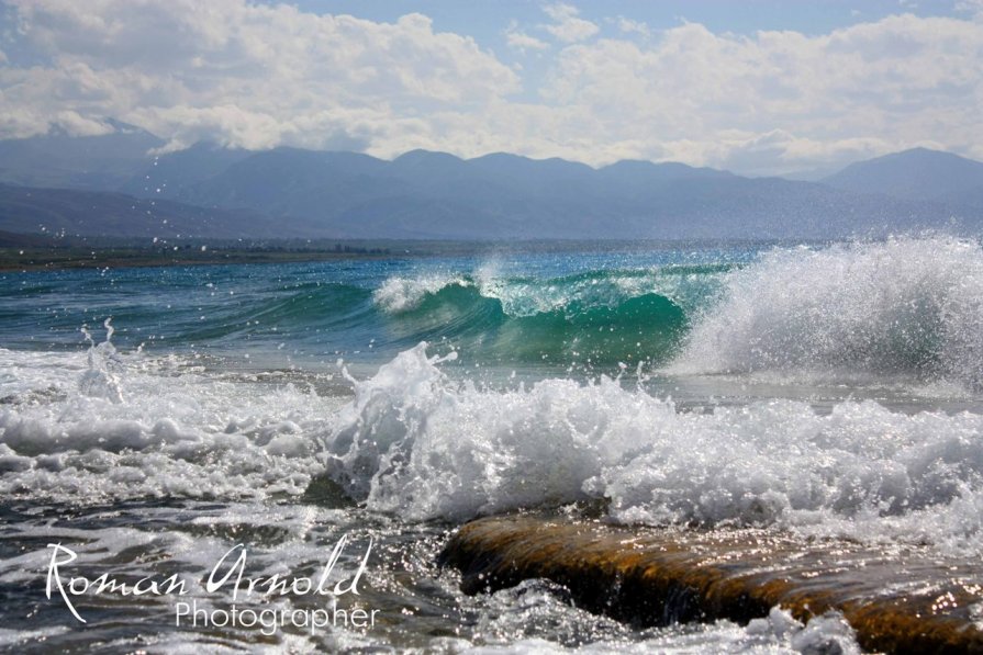
[[0,138],[107,118],[382,158],[424,148],[817,174],[983,159],[983,0],[0,1]]

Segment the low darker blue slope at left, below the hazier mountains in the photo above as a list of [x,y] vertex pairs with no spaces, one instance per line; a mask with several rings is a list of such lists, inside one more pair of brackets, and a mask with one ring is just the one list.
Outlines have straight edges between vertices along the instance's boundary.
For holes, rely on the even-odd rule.
[[250,211],[206,210],[102,191],[7,184],[0,184],[0,230],[55,237],[148,239],[332,236],[303,221],[284,226],[280,221]]

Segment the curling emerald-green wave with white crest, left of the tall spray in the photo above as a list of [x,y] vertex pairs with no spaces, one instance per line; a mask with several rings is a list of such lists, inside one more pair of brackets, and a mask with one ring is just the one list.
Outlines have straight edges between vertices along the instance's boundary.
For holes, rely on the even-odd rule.
[[[672,274],[702,281],[708,272],[718,271]],[[393,340],[405,346],[447,340],[466,358],[490,364],[634,366],[668,361],[686,329],[684,301],[678,300],[683,285],[668,279],[589,271],[552,280],[400,280],[389,282],[402,295],[383,285],[376,304]],[[673,285],[675,298],[657,290]]]

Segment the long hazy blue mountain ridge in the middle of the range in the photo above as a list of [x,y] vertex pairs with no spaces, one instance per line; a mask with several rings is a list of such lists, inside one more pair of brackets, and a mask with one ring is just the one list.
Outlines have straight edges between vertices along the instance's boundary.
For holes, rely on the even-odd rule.
[[[161,157],[157,168],[174,156]],[[426,150],[386,161],[277,148],[198,182],[169,185],[167,196],[303,218],[359,238],[823,238],[939,225],[965,214],[940,202],[682,163],[593,169],[561,159],[493,154],[465,160]],[[981,214],[967,221],[976,225]]]

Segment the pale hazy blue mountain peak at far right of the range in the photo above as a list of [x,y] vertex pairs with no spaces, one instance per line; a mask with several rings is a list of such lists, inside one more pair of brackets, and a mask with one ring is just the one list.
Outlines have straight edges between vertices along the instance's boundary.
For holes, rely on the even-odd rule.
[[983,163],[926,148],[858,161],[823,182],[854,193],[983,206]]

